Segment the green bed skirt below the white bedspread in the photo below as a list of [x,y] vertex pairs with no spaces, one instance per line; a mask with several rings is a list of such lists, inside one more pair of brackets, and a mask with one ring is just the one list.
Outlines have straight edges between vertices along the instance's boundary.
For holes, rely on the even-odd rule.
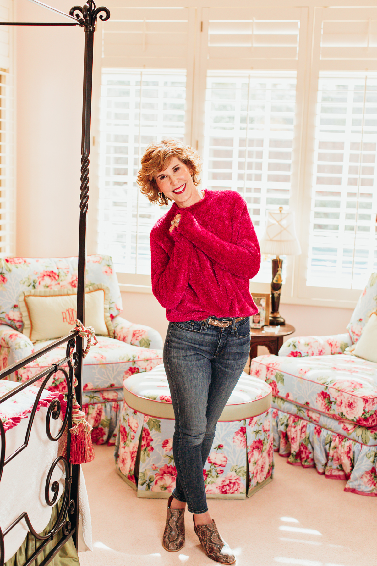
[[[63,497],[63,496],[62,496]],[[51,528],[53,527],[55,521],[58,518],[58,513],[60,511],[60,507],[62,505],[62,498],[58,501],[57,505],[53,508],[51,512],[51,518],[49,524],[46,526],[42,533],[38,533],[41,535],[47,534]],[[45,558],[49,555],[51,550],[53,550],[54,546],[63,538],[62,529],[60,529],[59,533],[55,535],[54,539],[46,544],[44,550],[37,556],[37,558],[33,561],[32,566],[38,566],[42,564]],[[41,543],[44,541],[40,541],[31,533],[27,534],[24,542],[21,544],[20,548],[10,558],[6,561],[4,566],[23,566],[25,562],[32,556],[33,552],[36,551],[38,547],[40,547]],[[68,539],[66,544],[60,548],[58,554],[54,556],[54,558],[49,562],[50,566],[76,566],[80,564],[79,556],[77,556],[77,551],[75,544],[73,543],[72,537]]]

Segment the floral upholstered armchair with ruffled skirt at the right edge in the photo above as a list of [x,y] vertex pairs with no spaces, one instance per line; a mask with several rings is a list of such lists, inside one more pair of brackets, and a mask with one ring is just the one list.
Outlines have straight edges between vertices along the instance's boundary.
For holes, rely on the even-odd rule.
[[275,451],[289,464],[315,466],[319,474],[346,480],[345,491],[374,496],[377,363],[367,358],[374,358],[377,345],[363,357],[353,350],[356,354],[360,337],[366,338],[376,311],[377,273],[372,273],[348,333],[291,338],[278,356],[259,356],[250,365],[250,374],[272,387]]

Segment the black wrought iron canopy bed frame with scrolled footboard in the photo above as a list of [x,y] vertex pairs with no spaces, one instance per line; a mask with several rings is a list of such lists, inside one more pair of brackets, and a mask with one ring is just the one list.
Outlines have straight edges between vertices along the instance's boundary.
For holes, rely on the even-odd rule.
[[[85,32],[85,45],[84,45],[84,87],[83,87],[83,125],[81,130],[81,193],[80,193],[80,224],[79,224],[79,264],[77,273],[77,318],[84,324],[85,319],[85,272],[86,272],[86,212],[88,211],[88,192],[89,192],[89,152],[90,152],[90,118],[91,118],[91,106],[92,106],[92,76],[93,76],[93,42],[94,42],[94,31],[97,18],[99,17],[102,22],[106,22],[110,18],[110,11],[101,6],[96,8],[93,0],[87,0],[83,7],[73,6],[70,10],[70,14],[56,10],[51,6],[48,6],[38,0],[31,0],[39,6],[47,8],[53,12],[64,16],[71,20],[69,23],[53,23],[53,22],[0,22],[0,25],[37,25],[37,26],[79,26],[84,28]],[[71,434],[70,428],[72,427],[72,400],[73,400],[73,379],[74,376],[77,379],[76,386],[76,399],[78,404],[81,406],[83,385],[81,376],[83,374],[83,342],[84,338],[79,336],[77,331],[71,332],[67,336],[55,340],[52,344],[45,346],[41,350],[38,350],[36,354],[32,354],[22,359],[19,362],[8,366],[5,370],[0,372],[0,379],[5,379],[8,375],[19,370],[21,367],[33,362],[35,359],[45,355],[47,352],[67,344],[66,357],[61,359],[54,365],[46,368],[46,370],[41,371],[39,374],[34,376],[34,378],[29,379],[25,383],[15,387],[12,392],[7,393],[0,397],[0,404],[7,399],[17,395],[18,392],[22,391],[28,385],[36,383],[36,381],[44,378],[38,395],[33,405],[32,413],[29,417],[29,423],[27,427],[27,432],[25,434],[24,444],[21,445],[16,451],[7,458],[5,458],[6,449],[6,438],[5,429],[3,423],[0,421],[0,481],[2,477],[2,472],[4,466],[8,464],[13,458],[17,456],[21,451],[23,451],[29,441],[29,436],[31,434],[31,427],[34,420],[34,415],[36,414],[37,404],[42,395],[42,391],[45,388],[47,381],[51,378],[53,374],[57,371],[63,372],[66,382],[67,382],[67,409],[66,415],[62,427],[57,436],[53,436],[50,431],[50,421],[51,418],[57,420],[59,418],[61,407],[59,400],[51,401],[49,409],[47,410],[46,416],[46,433],[51,441],[58,441],[60,436],[62,436],[64,429],[68,425],[68,438],[67,438],[67,455],[66,457],[57,457],[49,473],[47,474],[47,479],[45,483],[45,500],[47,505],[53,506],[57,503],[59,484],[58,482],[53,482],[50,487],[51,476],[55,467],[61,462],[60,465],[64,466],[65,470],[65,486],[62,495],[62,507],[58,513],[58,518],[51,528],[50,532],[44,536],[39,535],[33,529],[31,521],[29,520],[28,514],[26,512],[22,513],[16,520],[8,526],[7,529],[2,531],[0,525],[0,566],[4,566],[5,559],[5,548],[4,548],[4,537],[16,524],[21,520],[25,520],[27,523],[29,531],[34,535],[34,537],[41,541],[40,546],[33,553],[33,555],[27,559],[24,566],[32,564],[36,557],[44,550],[46,545],[53,540],[55,535],[62,530],[63,537],[60,541],[55,544],[54,548],[49,552],[46,558],[42,561],[41,565],[44,566],[48,564],[60,548],[70,539],[76,546],[78,544],[78,534],[79,534],[79,488],[80,488],[80,466],[70,464],[70,451],[71,451]],[[70,353],[72,349],[73,352],[72,361],[70,359]],[[68,372],[62,367],[64,364],[68,365]],[[53,492],[53,498],[50,499],[50,490]]]

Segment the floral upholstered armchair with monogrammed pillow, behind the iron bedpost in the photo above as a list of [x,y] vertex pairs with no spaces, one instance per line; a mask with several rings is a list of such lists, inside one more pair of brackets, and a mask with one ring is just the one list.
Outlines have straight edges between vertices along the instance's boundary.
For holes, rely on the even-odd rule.
[[[153,328],[133,324],[120,316],[122,298],[110,256],[88,256],[86,287],[92,288],[93,284],[106,289],[108,314],[113,327],[111,334],[114,337],[97,336],[98,345],[92,346],[84,359],[83,409],[93,426],[93,442],[113,444],[119,420],[119,404],[123,403],[123,380],[162,363],[162,338]],[[20,310],[22,294],[38,290],[70,293],[76,288],[75,257],[0,259],[0,369],[57,338],[51,336],[50,340],[33,343],[23,334],[24,320]],[[65,346],[55,348],[44,357],[20,368],[8,379],[27,381],[64,356]],[[66,392],[64,374],[56,372],[47,389]]]

